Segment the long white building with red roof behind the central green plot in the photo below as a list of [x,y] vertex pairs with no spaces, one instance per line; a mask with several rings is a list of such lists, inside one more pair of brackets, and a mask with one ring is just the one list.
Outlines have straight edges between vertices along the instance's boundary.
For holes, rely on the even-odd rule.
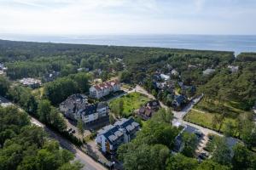
[[100,99],[110,93],[120,90],[120,83],[117,80],[102,82],[90,87],[90,97]]

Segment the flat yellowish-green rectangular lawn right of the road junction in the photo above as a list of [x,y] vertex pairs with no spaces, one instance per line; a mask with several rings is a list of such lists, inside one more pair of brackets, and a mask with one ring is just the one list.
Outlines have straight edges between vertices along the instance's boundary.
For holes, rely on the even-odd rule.
[[[217,124],[215,128],[213,128],[213,126],[212,126],[212,118],[215,114],[217,114],[217,113],[208,113],[208,112],[202,113],[199,111],[192,110],[192,111],[189,111],[188,115],[185,116],[184,120],[193,122],[193,123],[201,125],[203,127],[208,127],[208,128],[212,128],[214,130],[218,130],[219,124]],[[225,117],[224,122],[228,122],[228,121],[235,122],[235,119],[230,118],[230,117]],[[224,126],[221,127],[220,131],[221,132],[224,131]]]

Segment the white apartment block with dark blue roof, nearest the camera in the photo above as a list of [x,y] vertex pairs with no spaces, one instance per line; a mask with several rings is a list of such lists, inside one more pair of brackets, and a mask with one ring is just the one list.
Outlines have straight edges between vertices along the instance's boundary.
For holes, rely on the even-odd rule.
[[96,144],[105,154],[114,154],[120,144],[128,143],[134,139],[139,124],[133,118],[122,118],[113,125],[103,127],[97,132]]

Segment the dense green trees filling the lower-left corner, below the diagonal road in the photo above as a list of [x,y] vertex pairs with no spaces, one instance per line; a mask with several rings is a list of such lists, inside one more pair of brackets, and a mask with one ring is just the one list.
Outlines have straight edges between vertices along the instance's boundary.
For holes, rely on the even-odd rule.
[[73,154],[32,125],[26,112],[0,107],[0,169],[79,170]]

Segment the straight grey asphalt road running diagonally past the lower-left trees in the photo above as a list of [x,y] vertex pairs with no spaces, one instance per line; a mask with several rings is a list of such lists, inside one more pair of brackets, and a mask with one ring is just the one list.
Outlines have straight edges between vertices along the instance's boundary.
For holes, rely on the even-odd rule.
[[[4,104],[12,104],[8,99],[3,98],[0,96],[1,105]],[[14,104],[12,104],[14,105]],[[18,108],[20,108],[18,106]],[[90,156],[84,154],[83,151],[79,150],[77,146],[69,142],[67,139],[61,137],[60,134],[55,133],[54,131],[50,130],[46,127],[42,122],[39,122],[37,119],[31,117],[32,124],[35,124],[38,127],[43,127],[44,130],[49,133],[49,135],[54,138],[55,140],[59,141],[61,146],[67,150],[70,150],[75,155],[75,160],[79,160],[82,164],[84,164],[83,170],[107,170],[106,167],[103,167],[100,163],[94,161]]]

